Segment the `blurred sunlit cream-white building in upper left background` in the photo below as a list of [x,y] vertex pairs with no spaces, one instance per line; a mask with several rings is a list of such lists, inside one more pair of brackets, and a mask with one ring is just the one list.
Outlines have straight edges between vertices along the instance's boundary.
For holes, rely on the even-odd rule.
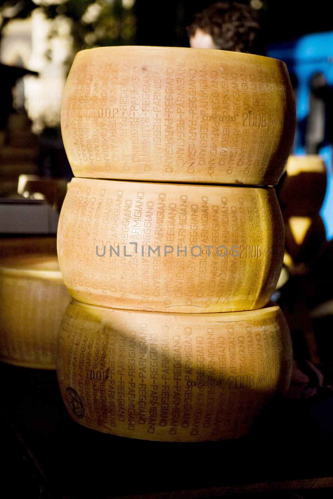
[[48,19],[37,7],[29,18],[10,20],[3,28],[0,61],[39,73],[17,82],[13,101],[17,109],[25,107],[35,133],[60,122],[61,95],[72,56],[68,17]]

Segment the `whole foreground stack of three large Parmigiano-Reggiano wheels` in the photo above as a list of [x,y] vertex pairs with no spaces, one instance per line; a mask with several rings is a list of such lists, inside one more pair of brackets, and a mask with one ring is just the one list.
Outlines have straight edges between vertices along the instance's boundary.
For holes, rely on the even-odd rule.
[[284,252],[273,187],[292,146],[285,65],[169,47],[76,55],[61,129],[69,294],[63,400],[79,423],[164,441],[240,437],[291,374],[269,304]]

